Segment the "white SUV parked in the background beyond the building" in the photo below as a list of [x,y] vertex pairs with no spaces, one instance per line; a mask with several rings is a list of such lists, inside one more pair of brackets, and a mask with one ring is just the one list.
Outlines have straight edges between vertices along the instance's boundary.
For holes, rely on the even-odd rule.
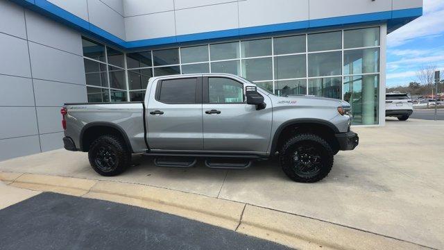
[[400,121],[409,119],[413,113],[413,101],[407,94],[386,94],[386,117],[398,117]]

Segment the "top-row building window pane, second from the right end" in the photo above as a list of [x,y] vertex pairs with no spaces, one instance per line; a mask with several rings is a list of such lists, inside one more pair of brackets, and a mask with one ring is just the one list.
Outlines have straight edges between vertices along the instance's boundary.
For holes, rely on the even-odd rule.
[[341,49],[341,31],[308,35],[308,51]]

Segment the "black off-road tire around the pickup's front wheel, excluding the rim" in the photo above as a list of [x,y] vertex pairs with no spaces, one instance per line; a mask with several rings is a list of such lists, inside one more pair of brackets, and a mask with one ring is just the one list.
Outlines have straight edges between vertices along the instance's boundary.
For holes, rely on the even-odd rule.
[[[319,165],[318,172],[314,176],[302,176],[298,174],[295,165],[293,164],[293,155],[296,153],[298,147],[304,147],[309,145],[315,147],[316,151],[320,153],[321,164]],[[307,146],[308,147],[308,146]],[[280,151],[280,165],[284,173],[291,178],[291,180],[300,183],[314,183],[321,181],[325,176],[330,173],[333,166],[334,151],[330,144],[328,144],[323,138],[311,133],[304,133],[295,135],[290,138],[282,147]]]

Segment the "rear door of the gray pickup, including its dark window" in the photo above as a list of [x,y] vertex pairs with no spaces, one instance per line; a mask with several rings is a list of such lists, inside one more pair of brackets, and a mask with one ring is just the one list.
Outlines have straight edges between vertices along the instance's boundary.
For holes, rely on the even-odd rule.
[[150,149],[203,150],[202,78],[168,78],[155,87],[146,108]]

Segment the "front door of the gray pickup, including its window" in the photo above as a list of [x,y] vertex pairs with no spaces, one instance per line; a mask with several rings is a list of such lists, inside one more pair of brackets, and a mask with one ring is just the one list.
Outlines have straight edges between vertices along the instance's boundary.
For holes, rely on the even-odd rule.
[[204,77],[205,151],[266,152],[272,119],[269,99],[267,102],[265,109],[256,110],[245,101],[243,83],[224,76]]

